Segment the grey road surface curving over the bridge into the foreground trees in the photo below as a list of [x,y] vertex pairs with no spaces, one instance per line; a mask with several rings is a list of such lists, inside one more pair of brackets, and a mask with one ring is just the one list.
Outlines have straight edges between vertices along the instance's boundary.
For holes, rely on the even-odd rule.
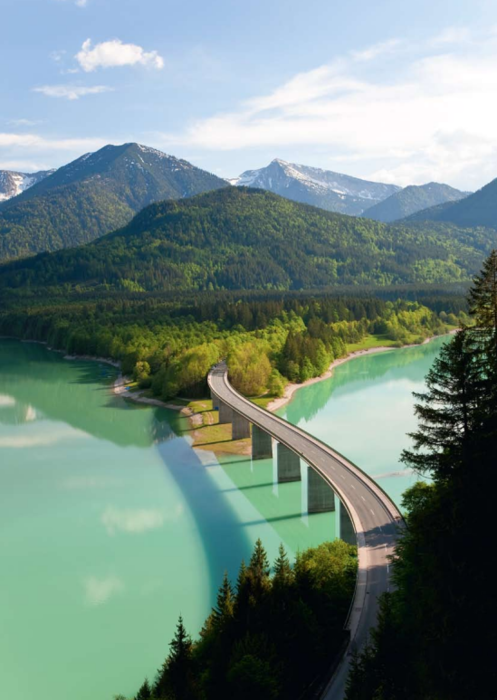
[[364,646],[369,630],[376,623],[378,596],[390,588],[388,557],[403,525],[401,514],[378,484],[352,462],[301,428],[239,394],[228,381],[224,363],[211,370],[208,384],[212,393],[233,411],[297,452],[306,464],[318,471],[350,515],[358,545],[357,584],[346,623],[350,644],[322,695],[323,700],[342,700],[352,653]]

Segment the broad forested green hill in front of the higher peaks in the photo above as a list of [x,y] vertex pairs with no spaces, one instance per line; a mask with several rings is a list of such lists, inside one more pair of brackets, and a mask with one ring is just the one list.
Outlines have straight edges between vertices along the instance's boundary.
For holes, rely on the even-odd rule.
[[[229,187],[152,204],[75,249],[0,266],[7,294],[29,290],[309,289],[467,280],[497,232],[387,225],[263,190]],[[50,288],[47,290],[47,288]]]

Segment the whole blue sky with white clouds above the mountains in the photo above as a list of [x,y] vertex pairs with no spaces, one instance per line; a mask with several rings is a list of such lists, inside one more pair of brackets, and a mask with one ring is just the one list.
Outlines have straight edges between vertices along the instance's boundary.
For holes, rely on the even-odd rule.
[[0,0],[0,27],[0,169],[136,141],[221,177],[497,177],[495,0]]

